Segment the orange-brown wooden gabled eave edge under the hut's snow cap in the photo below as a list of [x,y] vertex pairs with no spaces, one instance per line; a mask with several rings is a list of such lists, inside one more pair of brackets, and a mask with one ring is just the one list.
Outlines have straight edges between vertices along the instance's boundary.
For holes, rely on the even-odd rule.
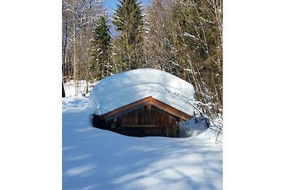
[[123,115],[127,112],[131,112],[133,110],[136,110],[142,106],[145,105],[153,105],[155,107],[158,107],[160,110],[163,110],[165,112],[168,112],[172,115],[174,115],[175,117],[179,117],[182,120],[190,120],[191,116],[188,115],[185,112],[182,112],[180,110],[177,110],[174,107],[171,107],[170,105],[165,104],[164,102],[160,102],[159,100],[156,100],[153,97],[145,97],[142,100],[138,100],[136,102],[130,103],[128,105],[125,105],[123,107],[119,107],[118,109],[115,109],[113,111],[107,112],[104,115],[102,115],[102,117],[105,118],[105,120],[110,120],[114,117],[117,117],[119,115]]

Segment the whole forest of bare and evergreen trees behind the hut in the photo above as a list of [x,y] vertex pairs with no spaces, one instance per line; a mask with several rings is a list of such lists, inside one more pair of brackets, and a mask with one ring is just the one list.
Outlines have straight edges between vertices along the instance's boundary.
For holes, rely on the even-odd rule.
[[63,0],[63,83],[156,68],[191,83],[203,112],[222,114],[222,13],[222,0],[120,0],[112,13],[104,0]]

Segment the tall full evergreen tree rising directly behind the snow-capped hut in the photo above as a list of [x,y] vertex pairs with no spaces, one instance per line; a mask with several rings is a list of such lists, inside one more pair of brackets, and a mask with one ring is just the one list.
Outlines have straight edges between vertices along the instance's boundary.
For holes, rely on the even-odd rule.
[[121,0],[115,10],[113,24],[119,36],[115,41],[115,61],[120,71],[140,68],[143,64],[142,9],[137,0]]

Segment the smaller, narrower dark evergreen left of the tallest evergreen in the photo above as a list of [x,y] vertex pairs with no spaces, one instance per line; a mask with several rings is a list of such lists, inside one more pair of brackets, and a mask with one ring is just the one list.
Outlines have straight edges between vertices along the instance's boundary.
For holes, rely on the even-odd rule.
[[110,43],[110,26],[107,25],[105,16],[101,16],[95,23],[91,53],[91,77],[97,80],[113,73]]

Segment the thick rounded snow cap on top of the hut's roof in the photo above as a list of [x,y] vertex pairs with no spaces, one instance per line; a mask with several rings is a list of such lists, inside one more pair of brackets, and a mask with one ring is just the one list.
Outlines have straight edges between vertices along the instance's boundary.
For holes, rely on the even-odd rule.
[[162,70],[142,68],[96,82],[89,100],[95,115],[103,115],[150,96],[193,115],[193,107],[185,100],[194,100],[194,95],[195,90],[187,81]]

